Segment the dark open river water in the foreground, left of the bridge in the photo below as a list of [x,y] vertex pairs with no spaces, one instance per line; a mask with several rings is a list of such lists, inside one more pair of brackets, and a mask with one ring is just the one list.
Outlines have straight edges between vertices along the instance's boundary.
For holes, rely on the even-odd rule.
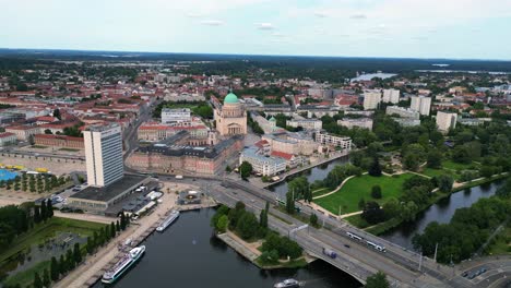
[[145,255],[109,287],[270,288],[290,277],[311,288],[360,287],[349,275],[322,261],[302,269],[261,271],[213,236],[213,214],[214,209],[181,213],[164,233],[155,232],[144,241]]

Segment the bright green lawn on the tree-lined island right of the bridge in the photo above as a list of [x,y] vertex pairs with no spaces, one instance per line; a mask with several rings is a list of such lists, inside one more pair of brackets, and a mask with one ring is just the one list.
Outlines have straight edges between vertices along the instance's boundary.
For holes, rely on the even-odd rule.
[[[338,214],[340,206],[342,214],[357,212],[359,211],[358,202],[360,199],[364,199],[366,202],[373,200],[380,204],[385,203],[385,201],[391,197],[397,199],[403,193],[404,181],[413,176],[413,173],[404,173],[395,177],[372,177],[363,175],[349,179],[341,190],[337,190],[332,195],[318,199],[314,203],[333,214]],[[379,200],[371,197],[371,188],[377,184],[381,187],[382,192],[382,199]]]

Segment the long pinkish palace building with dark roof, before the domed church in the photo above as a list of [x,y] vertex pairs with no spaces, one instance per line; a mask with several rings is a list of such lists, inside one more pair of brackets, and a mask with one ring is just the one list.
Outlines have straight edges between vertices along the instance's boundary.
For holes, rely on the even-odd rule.
[[214,176],[225,171],[226,163],[233,156],[238,156],[242,147],[241,135],[229,137],[214,146],[154,144],[136,149],[126,164],[146,171]]

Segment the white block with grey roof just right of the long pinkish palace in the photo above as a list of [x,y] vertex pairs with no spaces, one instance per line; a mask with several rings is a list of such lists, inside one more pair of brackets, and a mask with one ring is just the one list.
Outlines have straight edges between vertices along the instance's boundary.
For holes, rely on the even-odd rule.
[[259,153],[257,147],[249,147],[241,152],[239,164],[248,161],[253,171],[262,176],[274,176],[286,170],[286,160],[278,157],[269,157]]

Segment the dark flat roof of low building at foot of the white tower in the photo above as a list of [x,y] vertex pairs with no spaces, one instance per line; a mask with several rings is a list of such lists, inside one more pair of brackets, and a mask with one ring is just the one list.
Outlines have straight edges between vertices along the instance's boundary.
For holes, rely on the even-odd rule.
[[102,188],[87,187],[84,190],[76,192],[70,197],[108,202],[109,200],[121,194],[122,192],[126,192],[128,189],[141,183],[145,179],[147,179],[146,176],[124,175],[121,179],[117,180],[116,182]]

